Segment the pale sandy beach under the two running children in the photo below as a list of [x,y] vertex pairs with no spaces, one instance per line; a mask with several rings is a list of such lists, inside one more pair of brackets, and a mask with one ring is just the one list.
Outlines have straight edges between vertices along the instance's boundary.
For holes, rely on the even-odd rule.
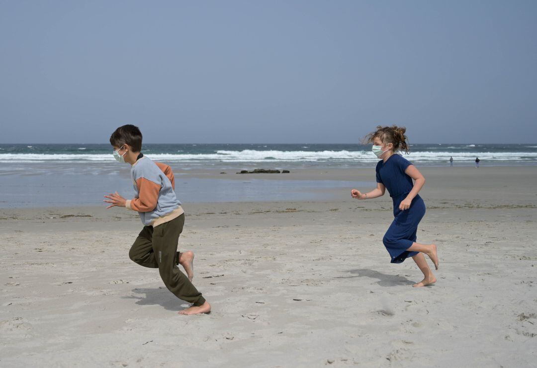
[[[158,271],[129,260],[142,228],[134,212],[0,209],[0,366],[534,365],[537,167],[422,173],[418,241],[440,256],[438,282],[425,288],[411,286],[422,279],[411,259],[389,263],[388,194],[357,201],[337,188],[326,189],[331,201],[233,203],[179,194],[179,249],[195,252],[208,315],[179,315],[188,305]],[[372,169],[286,175],[277,179],[374,181]]]

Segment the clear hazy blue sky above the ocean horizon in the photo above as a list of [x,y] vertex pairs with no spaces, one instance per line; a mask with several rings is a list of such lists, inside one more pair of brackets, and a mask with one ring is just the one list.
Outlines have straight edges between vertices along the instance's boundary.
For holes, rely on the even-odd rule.
[[0,143],[537,142],[537,1],[0,0]]

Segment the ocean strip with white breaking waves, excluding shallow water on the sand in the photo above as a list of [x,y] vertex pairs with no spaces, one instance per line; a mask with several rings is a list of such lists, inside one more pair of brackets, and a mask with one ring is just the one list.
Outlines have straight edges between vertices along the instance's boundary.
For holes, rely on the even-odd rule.
[[[144,144],[151,159],[190,167],[368,167],[378,159],[360,144]],[[413,144],[405,155],[417,165],[535,165],[537,144]],[[0,144],[3,163],[112,162],[109,144]]]

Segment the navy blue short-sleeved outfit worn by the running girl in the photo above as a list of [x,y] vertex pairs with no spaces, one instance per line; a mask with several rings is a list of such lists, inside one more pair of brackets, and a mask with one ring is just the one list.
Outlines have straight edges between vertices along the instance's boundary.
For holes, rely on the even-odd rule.
[[401,263],[419,252],[409,252],[408,248],[416,241],[418,225],[425,215],[425,203],[419,194],[414,197],[408,210],[401,211],[399,204],[413,188],[412,178],[405,174],[412,165],[400,154],[393,154],[386,162],[376,164],[376,182],[382,183],[394,201],[394,221],[382,242],[391,256],[391,263]]

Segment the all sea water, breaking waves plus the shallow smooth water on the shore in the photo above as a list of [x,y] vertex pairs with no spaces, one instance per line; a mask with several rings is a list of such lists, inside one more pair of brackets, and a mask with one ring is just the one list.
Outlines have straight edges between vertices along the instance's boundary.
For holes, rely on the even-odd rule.
[[[374,168],[371,146],[359,144],[147,144],[142,152],[176,170],[176,193],[188,202],[330,200],[371,182],[191,178],[182,170],[252,168]],[[416,166],[537,165],[537,144],[415,144],[405,155]],[[330,189],[330,190],[326,190]],[[134,194],[128,165],[109,144],[0,144],[0,208],[104,205],[103,195]]]

